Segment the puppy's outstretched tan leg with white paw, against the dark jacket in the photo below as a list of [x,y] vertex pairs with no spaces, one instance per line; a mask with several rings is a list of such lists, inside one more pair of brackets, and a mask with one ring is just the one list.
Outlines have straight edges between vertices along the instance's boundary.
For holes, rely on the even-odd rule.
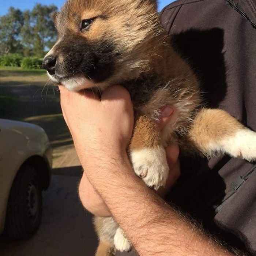
[[191,126],[189,138],[206,156],[226,153],[248,161],[256,159],[256,132],[220,109],[202,109]]

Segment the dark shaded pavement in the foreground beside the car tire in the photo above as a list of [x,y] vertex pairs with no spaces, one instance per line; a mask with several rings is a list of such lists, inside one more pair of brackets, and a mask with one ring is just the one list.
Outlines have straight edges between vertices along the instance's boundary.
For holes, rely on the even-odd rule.
[[[73,168],[73,169],[79,169]],[[79,177],[54,175],[44,192],[42,224],[26,242],[0,242],[1,256],[93,256],[97,246],[91,215],[78,199]]]

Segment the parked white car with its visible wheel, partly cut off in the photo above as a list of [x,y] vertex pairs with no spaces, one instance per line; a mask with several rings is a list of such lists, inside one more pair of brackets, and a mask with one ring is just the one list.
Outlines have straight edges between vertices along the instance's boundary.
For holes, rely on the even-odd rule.
[[0,119],[0,234],[26,239],[37,231],[51,167],[52,148],[44,129]]

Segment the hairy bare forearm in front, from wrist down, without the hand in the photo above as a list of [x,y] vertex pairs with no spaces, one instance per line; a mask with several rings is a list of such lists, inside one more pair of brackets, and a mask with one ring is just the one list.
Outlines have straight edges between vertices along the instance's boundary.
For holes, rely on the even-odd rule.
[[146,187],[128,160],[109,167],[109,182],[95,187],[140,256],[232,255]]

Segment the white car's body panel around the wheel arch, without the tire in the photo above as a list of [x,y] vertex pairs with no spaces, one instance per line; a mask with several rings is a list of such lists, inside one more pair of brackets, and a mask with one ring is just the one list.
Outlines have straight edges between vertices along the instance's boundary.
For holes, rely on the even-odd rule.
[[0,233],[4,229],[8,196],[20,166],[32,156],[52,166],[52,148],[41,127],[0,119]]

